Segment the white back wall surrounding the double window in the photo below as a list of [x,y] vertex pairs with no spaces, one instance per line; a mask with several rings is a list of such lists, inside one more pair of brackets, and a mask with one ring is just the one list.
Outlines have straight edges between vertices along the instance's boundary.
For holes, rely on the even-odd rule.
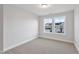
[[[44,33],[43,29],[43,17],[39,19],[40,21],[40,37],[56,39],[66,42],[73,42],[74,41],[74,11],[68,11],[58,14],[52,14],[53,16],[66,16],[66,23],[65,23],[65,35],[62,34],[53,34],[53,33]],[[52,16],[50,15],[50,16]]]

